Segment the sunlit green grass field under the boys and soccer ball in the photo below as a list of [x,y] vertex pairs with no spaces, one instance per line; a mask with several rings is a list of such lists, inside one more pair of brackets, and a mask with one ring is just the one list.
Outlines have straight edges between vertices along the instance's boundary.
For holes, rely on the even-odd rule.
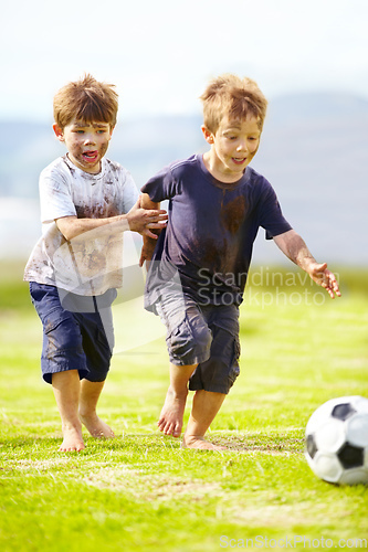
[[165,340],[149,341],[153,315],[132,322],[134,302],[132,318],[128,307],[116,309],[117,333],[145,338],[135,348],[118,338],[99,407],[117,436],[85,435],[86,450],[61,454],[53,394],[40,376],[41,325],[21,268],[3,265],[0,550],[364,548],[368,488],[318,480],[304,458],[304,428],[328,399],[368,396],[368,272],[341,269],[335,300],[297,274],[252,274],[241,375],[210,435],[229,452],[181,449],[156,429]]

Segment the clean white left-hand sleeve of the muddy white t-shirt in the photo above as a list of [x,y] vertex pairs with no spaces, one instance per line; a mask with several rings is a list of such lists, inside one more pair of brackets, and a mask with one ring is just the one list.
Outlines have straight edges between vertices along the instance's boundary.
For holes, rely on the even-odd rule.
[[71,182],[56,168],[44,169],[40,174],[41,222],[52,222],[61,216],[76,215]]

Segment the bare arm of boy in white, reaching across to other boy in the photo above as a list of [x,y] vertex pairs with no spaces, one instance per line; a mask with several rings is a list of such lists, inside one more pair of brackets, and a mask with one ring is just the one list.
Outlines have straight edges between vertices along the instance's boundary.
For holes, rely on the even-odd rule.
[[141,197],[138,198],[136,204],[126,214],[111,216],[108,219],[77,219],[77,216],[63,216],[56,219],[56,225],[65,240],[70,241],[84,232],[96,230],[107,224],[115,223],[116,231],[130,230],[138,232],[144,237],[150,236],[157,238],[151,232],[155,229],[162,229],[162,224],[167,220],[166,211],[160,209],[147,210],[141,206]]

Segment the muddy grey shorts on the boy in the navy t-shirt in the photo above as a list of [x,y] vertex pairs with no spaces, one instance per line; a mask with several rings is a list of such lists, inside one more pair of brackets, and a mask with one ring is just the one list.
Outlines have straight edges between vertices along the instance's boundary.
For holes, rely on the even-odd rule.
[[167,329],[170,362],[198,364],[189,389],[228,394],[239,375],[239,308],[166,296],[156,309]]

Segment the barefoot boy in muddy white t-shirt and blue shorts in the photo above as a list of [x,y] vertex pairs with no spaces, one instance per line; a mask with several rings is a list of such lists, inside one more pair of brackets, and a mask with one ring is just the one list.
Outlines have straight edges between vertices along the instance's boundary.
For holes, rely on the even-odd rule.
[[67,153],[40,177],[42,237],[24,272],[43,325],[41,369],[62,420],[60,450],[114,437],[96,413],[114,346],[111,305],[122,286],[123,232],[156,238],[162,210],[140,208],[130,173],[104,156],[117,116],[113,85],[85,75],[54,97],[54,132]]

